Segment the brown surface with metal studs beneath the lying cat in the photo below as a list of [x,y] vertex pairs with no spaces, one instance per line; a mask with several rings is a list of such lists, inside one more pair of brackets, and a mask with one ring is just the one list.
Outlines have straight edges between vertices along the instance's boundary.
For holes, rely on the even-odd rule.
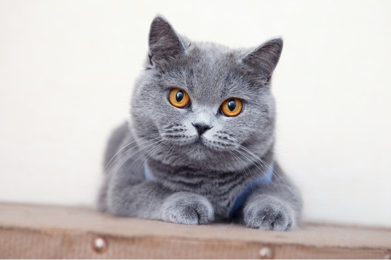
[[[107,247],[93,247],[103,238]],[[305,223],[290,232],[179,225],[87,208],[0,203],[0,258],[391,258],[391,229]]]

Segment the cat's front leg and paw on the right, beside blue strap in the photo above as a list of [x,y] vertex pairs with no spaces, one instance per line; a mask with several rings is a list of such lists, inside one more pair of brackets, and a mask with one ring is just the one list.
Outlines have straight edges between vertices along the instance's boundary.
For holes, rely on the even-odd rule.
[[263,230],[286,231],[298,224],[302,201],[297,188],[276,167],[272,183],[254,188],[245,201],[242,221]]

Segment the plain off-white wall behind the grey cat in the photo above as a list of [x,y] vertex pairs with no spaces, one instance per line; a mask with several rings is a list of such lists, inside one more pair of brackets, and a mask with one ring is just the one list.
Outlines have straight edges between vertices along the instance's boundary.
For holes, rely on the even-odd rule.
[[158,13],[233,48],[282,36],[276,154],[305,220],[391,226],[391,1],[0,1],[0,200],[93,205]]

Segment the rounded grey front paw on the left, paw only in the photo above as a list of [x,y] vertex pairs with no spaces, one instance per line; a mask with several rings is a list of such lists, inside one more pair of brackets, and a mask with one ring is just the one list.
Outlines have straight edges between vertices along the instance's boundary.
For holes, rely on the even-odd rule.
[[162,219],[180,224],[205,224],[214,219],[211,202],[190,192],[177,192],[162,205]]

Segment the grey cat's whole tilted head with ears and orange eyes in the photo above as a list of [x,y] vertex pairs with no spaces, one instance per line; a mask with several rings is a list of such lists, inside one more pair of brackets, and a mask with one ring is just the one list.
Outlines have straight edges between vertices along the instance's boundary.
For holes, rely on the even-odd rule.
[[252,50],[192,42],[157,16],[130,105],[140,145],[155,160],[214,170],[241,168],[250,152],[271,153],[270,82],[281,51],[279,38]]

